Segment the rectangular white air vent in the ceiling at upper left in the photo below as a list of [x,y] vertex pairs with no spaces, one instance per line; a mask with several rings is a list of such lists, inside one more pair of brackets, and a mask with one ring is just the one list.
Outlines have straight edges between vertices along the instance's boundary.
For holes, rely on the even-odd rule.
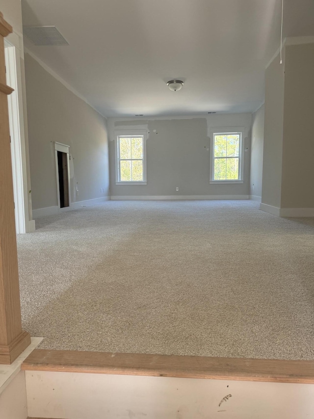
[[69,45],[55,26],[25,26],[23,32],[34,45]]

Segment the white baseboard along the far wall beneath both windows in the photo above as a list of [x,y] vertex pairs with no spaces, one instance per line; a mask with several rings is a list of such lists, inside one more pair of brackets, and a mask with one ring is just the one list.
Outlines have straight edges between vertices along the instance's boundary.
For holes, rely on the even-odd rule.
[[191,199],[249,199],[248,195],[111,195],[111,200],[191,200]]

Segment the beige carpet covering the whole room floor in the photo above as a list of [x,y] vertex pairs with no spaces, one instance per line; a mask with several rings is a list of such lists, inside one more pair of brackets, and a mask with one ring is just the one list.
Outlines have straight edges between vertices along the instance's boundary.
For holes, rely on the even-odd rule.
[[314,219],[254,201],[108,201],[18,237],[42,348],[314,359]]

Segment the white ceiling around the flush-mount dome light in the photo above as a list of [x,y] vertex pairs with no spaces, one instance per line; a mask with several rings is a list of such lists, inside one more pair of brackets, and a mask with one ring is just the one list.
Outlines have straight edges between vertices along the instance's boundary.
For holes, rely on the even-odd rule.
[[[25,46],[105,116],[253,112],[280,45],[281,0],[22,0]],[[314,0],[285,0],[284,36],[314,35]],[[184,86],[172,92],[171,79]]]

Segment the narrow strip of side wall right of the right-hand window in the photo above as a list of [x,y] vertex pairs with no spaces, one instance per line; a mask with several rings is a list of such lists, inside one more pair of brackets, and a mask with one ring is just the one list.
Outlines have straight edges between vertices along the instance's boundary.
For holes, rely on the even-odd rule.
[[264,117],[264,105],[252,114],[250,195],[254,198],[262,197]]

